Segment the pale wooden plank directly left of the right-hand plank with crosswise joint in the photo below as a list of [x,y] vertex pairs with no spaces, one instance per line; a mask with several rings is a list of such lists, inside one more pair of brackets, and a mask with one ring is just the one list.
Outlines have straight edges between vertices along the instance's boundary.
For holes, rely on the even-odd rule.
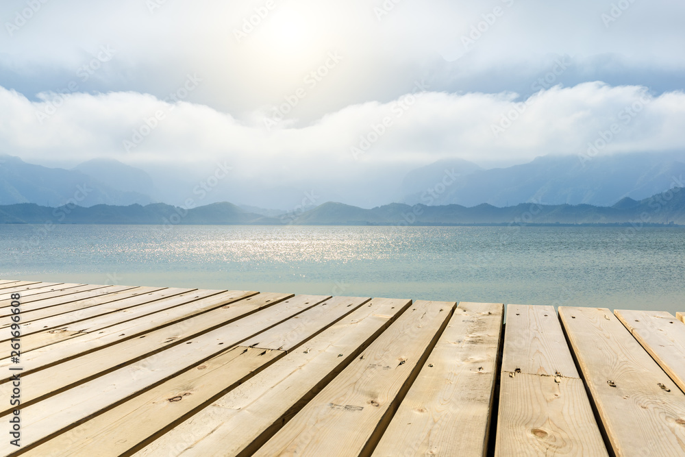
[[460,303],[373,456],[484,456],[503,304]]

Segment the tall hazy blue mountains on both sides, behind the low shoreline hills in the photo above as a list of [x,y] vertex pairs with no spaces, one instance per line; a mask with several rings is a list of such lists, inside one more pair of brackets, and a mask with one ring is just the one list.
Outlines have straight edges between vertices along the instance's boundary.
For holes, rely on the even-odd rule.
[[[73,169],[59,169],[0,156],[0,205],[37,203],[56,207],[75,201],[85,207],[134,203],[186,206],[184,201],[193,197],[195,206],[232,201],[245,212],[277,217],[296,209],[298,213],[301,209],[310,210],[326,199],[345,203],[345,198],[335,197],[334,191],[333,197],[319,195],[317,201],[303,200],[306,193],[295,188],[246,191],[249,184],[234,177],[205,193],[198,185],[203,184],[201,180],[190,177],[183,181],[184,175],[188,173],[184,173],[182,166],[173,164],[145,171],[116,160],[96,159]],[[507,207],[531,201],[545,205],[612,206],[624,197],[640,200],[672,186],[685,186],[684,180],[682,152],[599,154],[591,160],[544,156],[499,169],[482,169],[466,160],[441,160],[398,175],[395,202],[467,207],[481,203]],[[259,205],[254,204],[256,198]]]

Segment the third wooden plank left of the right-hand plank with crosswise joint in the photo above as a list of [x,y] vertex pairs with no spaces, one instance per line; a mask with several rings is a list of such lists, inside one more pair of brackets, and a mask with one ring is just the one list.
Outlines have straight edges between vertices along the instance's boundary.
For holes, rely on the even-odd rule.
[[199,456],[255,452],[410,304],[371,300],[134,455],[168,454],[170,449]]

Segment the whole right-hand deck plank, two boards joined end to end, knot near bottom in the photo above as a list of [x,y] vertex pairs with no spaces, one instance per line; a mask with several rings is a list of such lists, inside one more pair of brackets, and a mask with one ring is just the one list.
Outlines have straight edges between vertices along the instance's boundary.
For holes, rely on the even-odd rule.
[[496,456],[606,456],[553,306],[508,305]]

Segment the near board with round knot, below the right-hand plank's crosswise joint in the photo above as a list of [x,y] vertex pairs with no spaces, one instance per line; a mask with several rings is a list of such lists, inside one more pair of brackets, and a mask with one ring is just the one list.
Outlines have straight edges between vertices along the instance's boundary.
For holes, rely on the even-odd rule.
[[583,380],[519,373],[500,382],[495,456],[608,456]]

